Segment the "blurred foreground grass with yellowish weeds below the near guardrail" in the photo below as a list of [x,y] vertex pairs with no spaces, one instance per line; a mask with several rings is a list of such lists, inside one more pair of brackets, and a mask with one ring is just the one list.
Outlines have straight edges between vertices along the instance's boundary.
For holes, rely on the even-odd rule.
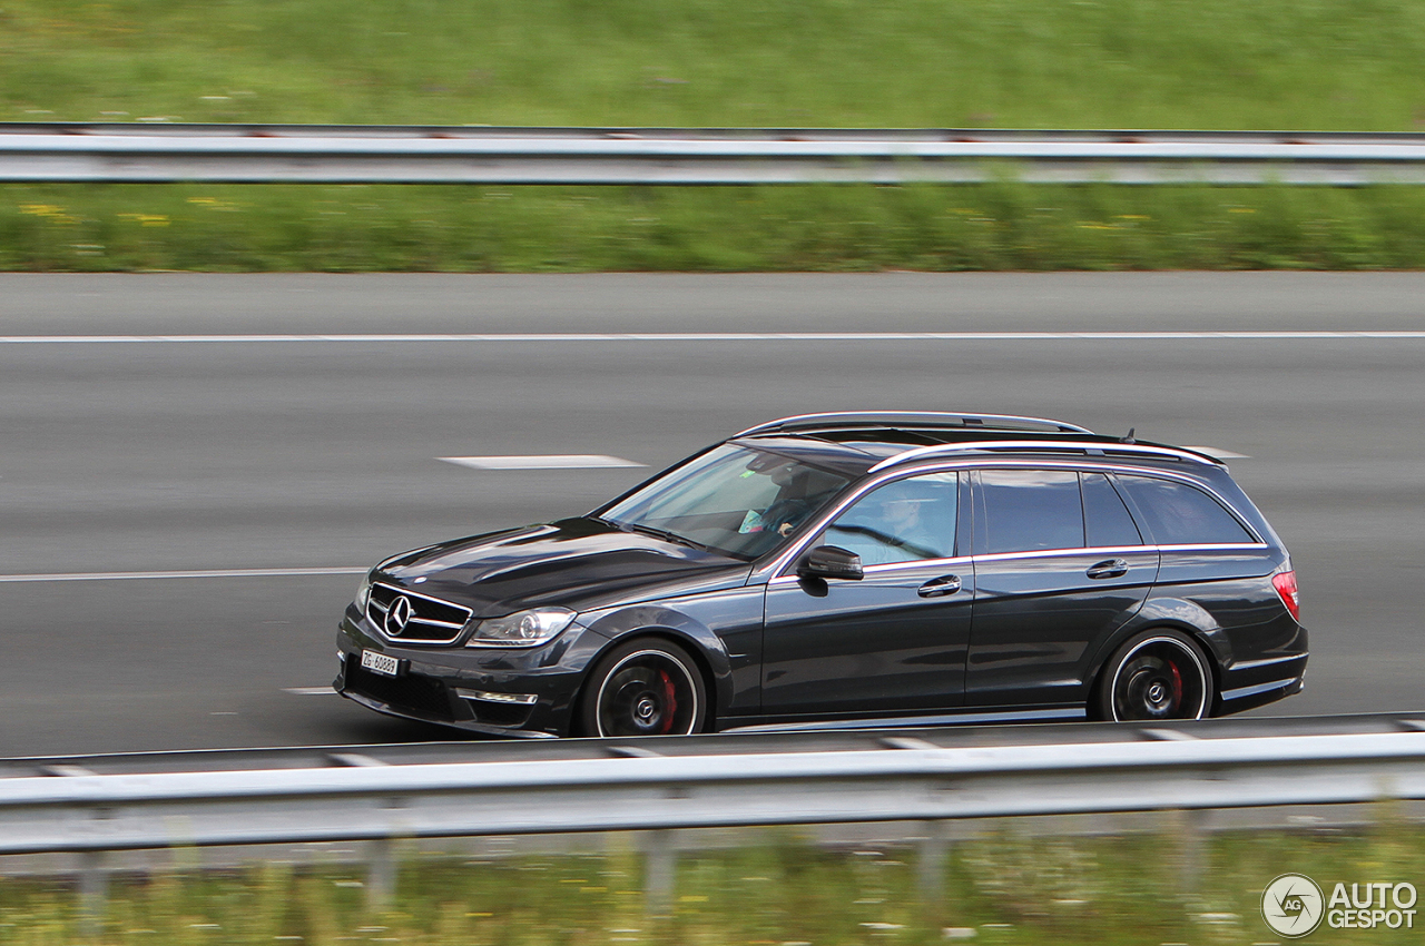
[[[1253,943],[1278,939],[1260,898],[1281,873],[1307,873],[1328,898],[1337,882],[1419,885],[1425,876],[1425,836],[1396,823],[1361,835],[1218,835],[1193,883],[1184,835],[1171,816],[1163,821],[1157,835],[1082,839],[1035,839],[1006,823],[955,845],[943,888],[926,895],[915,848],[835,852],[785,839],[688,853],[667,916],[646,909],[643,862],[628,849],[415,858],[400,870],[395,902],[375,912],[363,906],[359,868],[130,878],[113,885],[93,932],[70,888],[9,879],[0,880],[0,943],[849,946],[942,943],[948,927],[990,946]],[[1415,935],[1322,926],[1312,939],[1398,943]]]

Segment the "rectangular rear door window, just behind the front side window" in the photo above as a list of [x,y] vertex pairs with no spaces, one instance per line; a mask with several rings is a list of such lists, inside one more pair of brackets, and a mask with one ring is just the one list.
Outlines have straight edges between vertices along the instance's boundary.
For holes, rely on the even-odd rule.
[[1077,473],[982,470],[980,494],[986,554],[1083,547]]

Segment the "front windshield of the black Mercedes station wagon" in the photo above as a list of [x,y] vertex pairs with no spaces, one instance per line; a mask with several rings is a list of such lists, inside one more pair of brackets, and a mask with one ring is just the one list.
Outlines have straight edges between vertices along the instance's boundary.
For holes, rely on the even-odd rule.
[[781,546],[846,483],[789,457],[724,443],[598,517],[752,560]]

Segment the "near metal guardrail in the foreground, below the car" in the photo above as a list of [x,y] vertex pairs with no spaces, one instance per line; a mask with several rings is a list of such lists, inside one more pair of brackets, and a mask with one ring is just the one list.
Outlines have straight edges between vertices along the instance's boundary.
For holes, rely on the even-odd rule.
[[621,748],[627,758],[54,771],[0,778],[0,853],[1425,798],[1421,731],[1149,732],[1157,741],[942,748],[882,734],[886,748],[869,751],[678,757],[637,744]]

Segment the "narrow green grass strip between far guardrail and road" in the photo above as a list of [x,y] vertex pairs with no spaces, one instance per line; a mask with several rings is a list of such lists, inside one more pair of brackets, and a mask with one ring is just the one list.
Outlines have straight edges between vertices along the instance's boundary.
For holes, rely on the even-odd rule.
[[1425,189],[0,187],[0,269],[1379,269]]

